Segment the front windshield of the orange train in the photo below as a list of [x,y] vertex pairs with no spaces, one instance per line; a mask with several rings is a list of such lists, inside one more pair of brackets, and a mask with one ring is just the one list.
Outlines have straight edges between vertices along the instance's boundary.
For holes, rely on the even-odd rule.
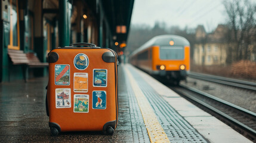
[[183,60],[184,48],[182,46],[161,46],[161,60]]

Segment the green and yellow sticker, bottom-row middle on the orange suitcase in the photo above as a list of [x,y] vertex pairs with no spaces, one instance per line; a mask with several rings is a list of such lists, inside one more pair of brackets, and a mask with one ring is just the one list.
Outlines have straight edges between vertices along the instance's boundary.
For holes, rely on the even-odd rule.
[[75,94],[74,95],[74,112],[88,113],[89,112],[89,95]]

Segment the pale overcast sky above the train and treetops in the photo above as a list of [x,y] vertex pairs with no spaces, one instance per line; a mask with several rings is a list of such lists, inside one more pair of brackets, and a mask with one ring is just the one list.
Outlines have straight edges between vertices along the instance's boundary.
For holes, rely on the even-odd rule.
[[227,15],[223,0],[134,0],[131,24],[153,27],[156,21],[182,29],[202,24],[210,32],[226,23]]

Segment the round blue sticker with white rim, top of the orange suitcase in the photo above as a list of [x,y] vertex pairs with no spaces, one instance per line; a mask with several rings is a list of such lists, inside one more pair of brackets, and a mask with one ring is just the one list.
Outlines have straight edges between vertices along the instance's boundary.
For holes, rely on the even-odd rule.
[[76,67],[76,69],[78,70],[84,70],[87,69],[88,65],[89,65],[89,59],[87,57],[87,55],[85,54],[77,54],[76,57],[74,58],[74,65]]

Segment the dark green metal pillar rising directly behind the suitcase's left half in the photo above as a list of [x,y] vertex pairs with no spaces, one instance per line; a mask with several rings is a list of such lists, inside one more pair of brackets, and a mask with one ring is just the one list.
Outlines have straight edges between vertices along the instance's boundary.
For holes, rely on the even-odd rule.
[[58,38],[59,46],[69,46],[70,44],[70,18],[72,5],[66,0],[58,1],[59,19],[58,19]]

